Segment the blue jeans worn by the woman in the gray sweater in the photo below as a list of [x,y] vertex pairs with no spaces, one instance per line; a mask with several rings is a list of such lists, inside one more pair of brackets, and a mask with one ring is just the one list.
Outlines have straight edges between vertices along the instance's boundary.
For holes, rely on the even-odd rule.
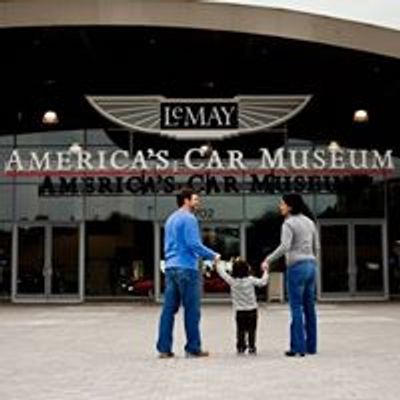
[[296,353],[317,352],[317,315],[315,311],[316,263],[299,261],[287,269],[291,312],[290,350]]

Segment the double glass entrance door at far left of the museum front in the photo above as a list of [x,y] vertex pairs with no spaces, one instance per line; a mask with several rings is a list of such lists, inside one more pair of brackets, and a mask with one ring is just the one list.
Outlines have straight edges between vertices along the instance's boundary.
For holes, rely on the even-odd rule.
[[13,301],[81,301],[80,243],[77,224],[16,226]]

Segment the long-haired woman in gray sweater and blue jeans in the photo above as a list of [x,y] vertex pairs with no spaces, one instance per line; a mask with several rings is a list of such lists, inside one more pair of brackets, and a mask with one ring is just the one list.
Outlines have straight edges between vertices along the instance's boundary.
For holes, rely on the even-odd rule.
[[[316,269],[319,253],[318,230],[311,212],[299,194],[284,195],[279,209],[285,221],[281,243],[262,266],[285,256],[287,288],[291,311],[289,357],[317,352],[317,317],[315,311]],[[308,216],[307,216],[308,215]]]

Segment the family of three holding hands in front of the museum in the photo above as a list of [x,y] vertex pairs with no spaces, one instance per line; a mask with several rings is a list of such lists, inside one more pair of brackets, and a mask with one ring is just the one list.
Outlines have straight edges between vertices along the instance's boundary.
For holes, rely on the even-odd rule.
[[317,352],[315,310],[316,269],[319,253],[318,231],[313,217],[298,194],[283,195],[279,209],[284,217],[281,243],[261,263],[262,276],[251,275],[250,265],[242,258],[233,260],[229,273],[220,263],[220,254],[203,245],[194,212],[200,198],[191,189],[177,196],[178,210],[165,225],[165,292],[159,322],[157,350],[160,358],[174,357],[172,352],[175,314],[184,308],[187,357],[207,357],[200,335],[201,278],[198,259],[213,260],[218,274],[230,286],[236,318],[236,350],[255,355],[257,299],[255,287],[268,283],[269,265],[285,256],[287,289],[291,311],[288,357],[304,357]]

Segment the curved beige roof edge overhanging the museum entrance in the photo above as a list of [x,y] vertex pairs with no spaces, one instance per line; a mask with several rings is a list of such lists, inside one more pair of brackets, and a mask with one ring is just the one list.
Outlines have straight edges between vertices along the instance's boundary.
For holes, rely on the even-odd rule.
[[[383,5],[379,2],[379,6]],[[224,30],[300,39],[400,58],[398,30],[287,9],[184,0],[69,0],[62,3],[0,0],[0,27],[66,25]]]

